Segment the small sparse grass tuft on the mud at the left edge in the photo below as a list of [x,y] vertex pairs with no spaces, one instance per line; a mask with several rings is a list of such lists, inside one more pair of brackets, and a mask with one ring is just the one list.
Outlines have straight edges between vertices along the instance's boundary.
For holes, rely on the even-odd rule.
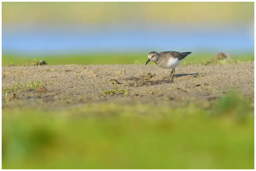
[[28,80],[27,82],[24,82],[23,84],[17,83],[13,85],[7,85],[4,89],[2,89],[2,93],[17,93],[19,91],[24,91],[26,89],[37,89],[40,86],[44,85],[44,80],[39,80],[39,81],[31,81]]

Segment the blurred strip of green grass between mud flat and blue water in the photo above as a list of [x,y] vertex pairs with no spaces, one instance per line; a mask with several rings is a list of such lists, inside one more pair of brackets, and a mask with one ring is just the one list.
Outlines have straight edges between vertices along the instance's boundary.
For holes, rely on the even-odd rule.
[[[189,64],[206,64],[214,55],[210,54],[190,54],[180,65]],[[2,66],[10,65],[26,65],[34,61],[35,56],[24,57],[15,55],[2,55]],[[48,65],[65,65],[65,64],[80,64],[80,65],[99,65],[99,64],[145,64],[147,61],[146,53],[138,54],[81,54],[81,55],[48,55],[36,56],[37,60],[45,60]],[[254,55],[238,55],[232,56],[232,62],[254,61]],[[149,65],[154,64],[149,62]]]

